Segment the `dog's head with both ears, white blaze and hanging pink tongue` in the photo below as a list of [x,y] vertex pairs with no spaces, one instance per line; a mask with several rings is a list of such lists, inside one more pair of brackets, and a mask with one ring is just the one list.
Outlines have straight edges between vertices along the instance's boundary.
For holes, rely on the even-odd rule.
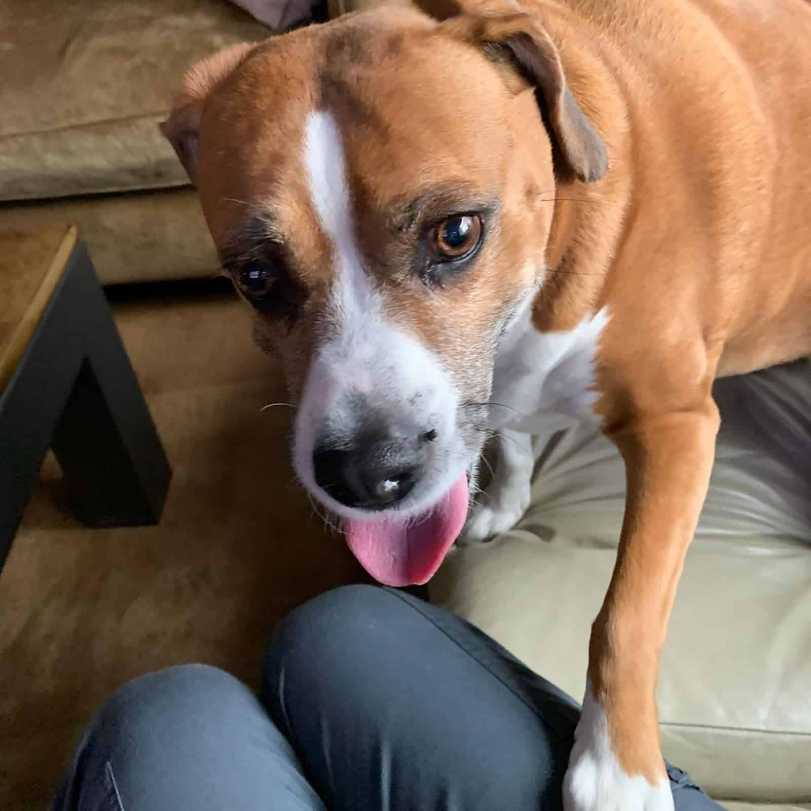
[[196,65],[164,132],[283,359],[299,477],[374,577],[427,581],[466,518],[556,178],[606,168],[550,37],[397,3]]

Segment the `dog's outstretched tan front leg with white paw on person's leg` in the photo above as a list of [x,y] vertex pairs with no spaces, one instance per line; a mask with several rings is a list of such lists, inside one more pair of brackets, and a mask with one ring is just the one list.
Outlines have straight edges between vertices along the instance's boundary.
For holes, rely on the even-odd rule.
[[684,556],[714,458],[718,410],[639,415],[610,434],[628,494],[616,566],[591,630],[583,714],[564,783],[566,811],[670,811],[655,689]]

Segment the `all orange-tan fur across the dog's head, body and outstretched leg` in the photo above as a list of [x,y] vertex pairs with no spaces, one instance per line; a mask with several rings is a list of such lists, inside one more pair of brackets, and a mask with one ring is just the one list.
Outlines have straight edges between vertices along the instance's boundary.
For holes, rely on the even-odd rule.
[[[629,489],[589,670],[620,764],[656,783],[659,650],[710,475],[711,384],[811,352],[811,6],[526,0],[522,22],[500,2],[464,5],[497,19],[460,21],[437,2],[436,17],[451,19],[436,22],[393,3],[240,52],[236,69],[225,59],[191,74],[186,97],[216,88],[200,125],[201,200],[221,249],[249,212],[265,210],[293,246],[307,303],[294,327],[260,317],[257,328],[285,355],[293,393],[329,249],[292,145],[322,103],[344,136],[371,272],[468,392],[486,397],[491,326],[534,263],[549,264],[540,330],[610,308],[598,410]],[[504,16],[554,43],[607,148],[598,182],[556,178],[526,75],[483,53]],[[486,256],[442,296],[403,272],[407,246],[388,220],[422,178],[500,198]]]

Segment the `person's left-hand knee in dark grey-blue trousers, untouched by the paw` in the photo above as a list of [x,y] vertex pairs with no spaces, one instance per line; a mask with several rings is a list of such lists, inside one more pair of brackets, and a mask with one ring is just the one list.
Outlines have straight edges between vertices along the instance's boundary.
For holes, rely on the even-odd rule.
[[114,694],[80,745],[55,808],[74,808],[80,795],[93,800],[83,808],[253,809],[275,807],[268,798],[287,788],[290,796],[309,792],[290,743],[255,693],[215,667],[183,665]]

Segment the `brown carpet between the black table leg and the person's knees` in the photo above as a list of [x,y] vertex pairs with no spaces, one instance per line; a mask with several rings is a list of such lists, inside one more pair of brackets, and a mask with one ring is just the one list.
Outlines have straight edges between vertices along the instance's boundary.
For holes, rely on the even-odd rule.
[[363,574],[294,483],[290,409],[232,294],[114,305],[174,478],[160,526],[88,530],[53,459],[0,574],[0,809],[44,809],[123,681],[201,661],[255,684],[287,611]]

